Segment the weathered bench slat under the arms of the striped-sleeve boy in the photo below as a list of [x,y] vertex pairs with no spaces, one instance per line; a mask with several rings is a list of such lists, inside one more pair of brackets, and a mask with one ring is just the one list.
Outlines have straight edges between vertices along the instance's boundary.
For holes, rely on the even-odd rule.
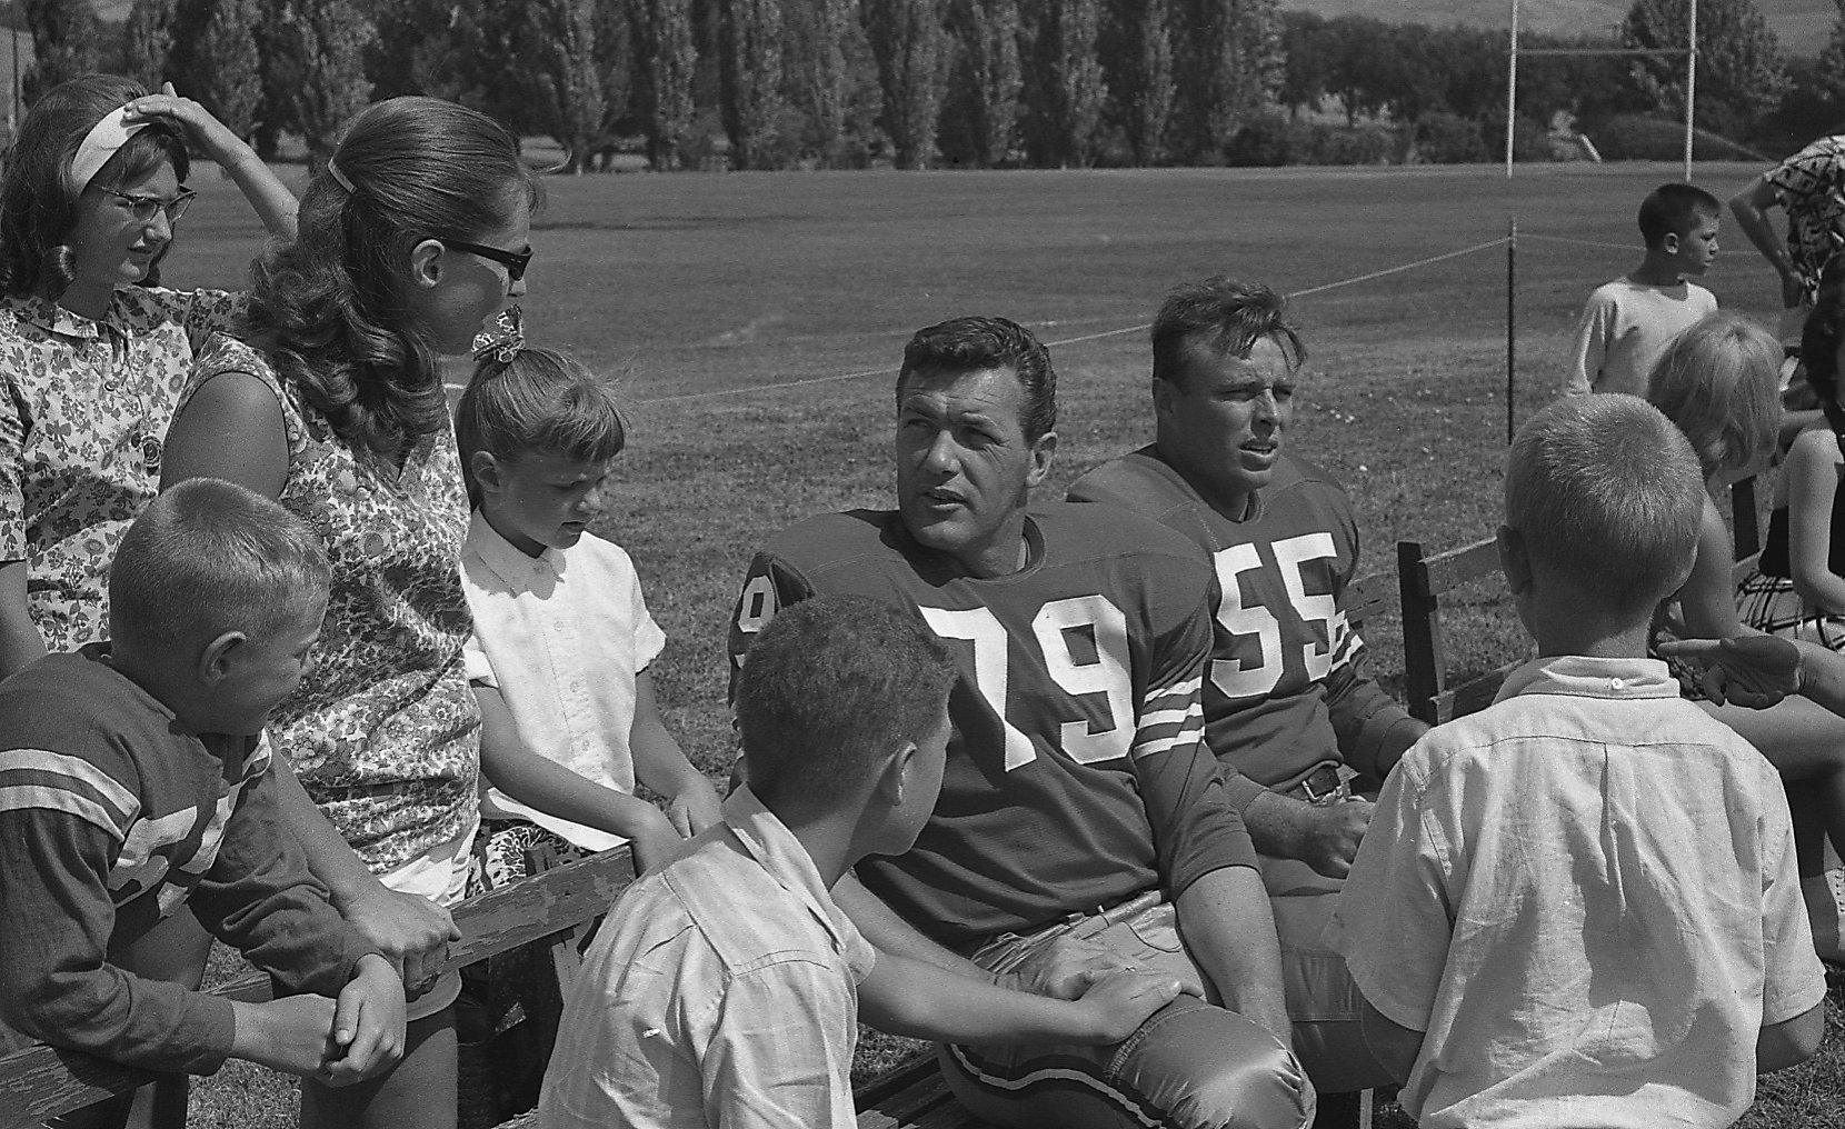
[[[528,941],[585,922],[609,908],[635,880],[627,847],[546,871],[456,906],[461,941],[445,969],[459,969]],[[269,998],[269,978],[242,976],[220,989],[244,1002]],[[153,1081],[155,1074],[118,1066],[81,1052],[31,1046],[0,1057],[0,1129],[28,1129]]]

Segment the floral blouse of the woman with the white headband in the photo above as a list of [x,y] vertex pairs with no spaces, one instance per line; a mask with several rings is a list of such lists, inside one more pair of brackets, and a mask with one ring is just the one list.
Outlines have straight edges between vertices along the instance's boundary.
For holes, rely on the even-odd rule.
[[26,561],[44,646],[109,636],[109,563],[161,491],[161,441],[192,356],[244,295],[124,286],[101,321],[0,297],[0,561]]

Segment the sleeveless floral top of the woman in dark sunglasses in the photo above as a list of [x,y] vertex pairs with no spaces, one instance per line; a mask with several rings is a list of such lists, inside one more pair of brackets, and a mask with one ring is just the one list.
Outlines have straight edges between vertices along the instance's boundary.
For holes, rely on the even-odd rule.
[[[341,441],[256,349],[212,338],[179,400],[249,373],[282,404],[279,502],[327,548],[332,594],[315,668],[269,718],[269,738],[373,873],[474,834],[480,712],[461,648],[469,504],[454,432],[424,435],[402,469]],[[465,862],[465,860],[463,860]]]

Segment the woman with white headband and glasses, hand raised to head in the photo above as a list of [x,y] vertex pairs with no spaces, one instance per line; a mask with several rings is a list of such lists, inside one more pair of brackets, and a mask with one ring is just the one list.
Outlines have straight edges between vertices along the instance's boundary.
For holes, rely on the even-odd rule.
[[271,234],[295,197],[168,85],[63,83],[31,105],[0,175],[0,677],[109,635],[109,563],[161,481],[196,347],[242,297],[162,290],[192,203],[186,142],[229,170]]

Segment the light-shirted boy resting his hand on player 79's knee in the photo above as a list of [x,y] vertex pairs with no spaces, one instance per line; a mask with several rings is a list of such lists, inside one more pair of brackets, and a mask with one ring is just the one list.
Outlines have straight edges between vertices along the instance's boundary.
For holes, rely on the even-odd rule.
[[635,882],[565,1002],[548,1129],[851,1129],[867,1022],[921,1039],[1127,1039],[1179,992],[1114,972],[1079,1000],[876,952],[832,900],[935,808],[956,671],[908,614],[862,596],[784,609],[734,684],[747,784],[723,823]]

